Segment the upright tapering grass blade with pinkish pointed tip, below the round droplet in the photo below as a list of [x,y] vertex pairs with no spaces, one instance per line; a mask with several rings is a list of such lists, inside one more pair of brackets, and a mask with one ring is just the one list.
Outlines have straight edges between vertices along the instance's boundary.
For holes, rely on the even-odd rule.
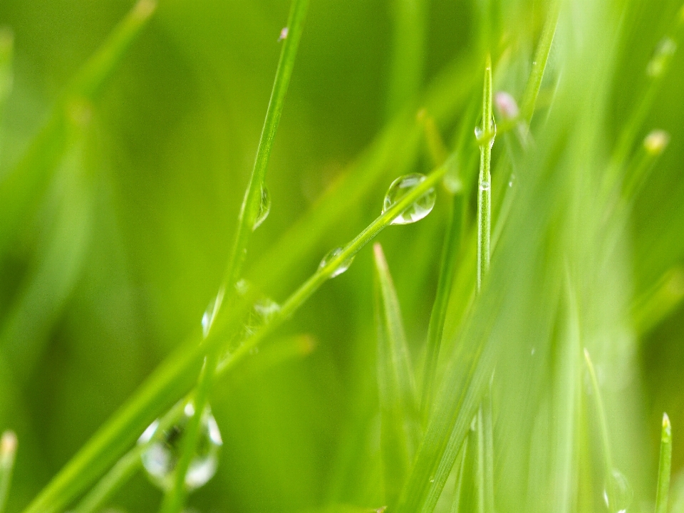
[[418,443],[418,408],[399,301],[380,244],[375,257],[375,326],[378,333],[380,446],[385,497],[396,504]]

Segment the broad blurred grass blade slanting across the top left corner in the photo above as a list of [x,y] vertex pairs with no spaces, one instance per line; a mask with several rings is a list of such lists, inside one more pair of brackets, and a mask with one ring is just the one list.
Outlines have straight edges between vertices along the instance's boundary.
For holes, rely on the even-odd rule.
[[131,43],[155,10],[153,0],[139,0],[100,49],[83,66],[58,102],[48,123],[31,143],[19,164],[0,179],[0,254],[35,212],[53,169],[68,151],[73,125],[82,105],[92,103]]

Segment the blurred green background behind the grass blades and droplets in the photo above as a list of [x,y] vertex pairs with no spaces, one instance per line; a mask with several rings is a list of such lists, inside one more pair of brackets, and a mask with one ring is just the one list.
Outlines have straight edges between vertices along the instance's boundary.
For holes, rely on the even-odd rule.
[[[391,3],[311,1],[269,164],[271,214],[254,234],[248,275],[250,264],[315,204],[388,120]],[[473,4],[430,1],[423,83],[472,54]],[[537,34],[539,3],[529,4],[530,15],[512,22],[527,23],[516,30]],[[130,1],[116,0],[0,4],[0,24],[11,27],[15,47],[0,178],[19,162],[70,78],[130,7]],[[641,70],[679,7],[673,0],[643,0],[628,8],[608,140],[616,137]],[[160,1],[93,106],[78,180],[57,173],[36,214],[23,219],[20,236],[0,255],[0,428],[19,435],[10,511],[24,507],[198,325],[222,276],[288,11],[283,0]],[[475,83],[480,80],[478,75]],[[495,76],[495,87],[497,80],[499,88],[514,87],[510,77]],[[680,52],[646,123],[668,130],[672,140],[631,217],[626,258],[634,297],[666,272],[676,273],[683,261],[683,106]],[[447,140],[456,119],[441,122]],[[342,222],[266,291],[285,299],[328,249],[380,212],[393,177],[425,172],[429,163],[421,153],[405,167],[385,170],[368,201],[348,204]],[[436,286],[445,218],[440,199],[423,222],[380,237],[417,355]],[[215,390],[222,458],[216,477],[192,495],[192,507],[299,511],[344,495],[340,483],[349,480],[340,475],[338,455],[354,443],[349,430],[356,416],[372,416],[367,410],[375,408],[369,392],[375,380],[371,270],[366,248],[281,329],[313,336],[311,355],[238,375]],[[678,272],[675,293],[684,289]],[[678,469],[684,465],[681,304],[641,337],[638,369],[643,418],[635,422],[648,426],[651,445],[634,450],[650,453],[655,465],[666,410]],[[159,499],[160,492],[138,475],[113,504],[149,512]]]

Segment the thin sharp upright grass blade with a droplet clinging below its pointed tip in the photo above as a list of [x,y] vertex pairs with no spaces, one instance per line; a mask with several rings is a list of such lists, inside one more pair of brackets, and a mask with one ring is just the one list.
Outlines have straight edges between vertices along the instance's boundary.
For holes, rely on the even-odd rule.
[[480,175],[477,178],[477,290],[489,269],[492,237],[492,145],[497,134],[492,110],[492,58],[487,55],[482,89],[482,125],[476,130],[480,143]]

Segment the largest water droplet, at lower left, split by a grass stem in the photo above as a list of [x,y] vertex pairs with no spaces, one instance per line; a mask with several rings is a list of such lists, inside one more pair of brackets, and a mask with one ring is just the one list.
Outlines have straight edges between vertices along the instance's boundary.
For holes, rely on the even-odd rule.
[[[189,408],[190,406],[190,408]],[[183,445],[183,435],[188,421],[195,413],[191,403],[183,408],[182,418],[171,427],[158,432],[160,421],[155,420],[138,439],[139,445],[145,445],[152,440],[140,458],[142,466],[150,480],[163,490],[171,489],[175,476],[175,467],[180,459]],[[195,455],[185,475],[185,487],[192,491],[206,484],[214,474],[219,462],[219,448],[223,445],[221,432],[207,405],[202,414],[199,426],[199,438]]]

